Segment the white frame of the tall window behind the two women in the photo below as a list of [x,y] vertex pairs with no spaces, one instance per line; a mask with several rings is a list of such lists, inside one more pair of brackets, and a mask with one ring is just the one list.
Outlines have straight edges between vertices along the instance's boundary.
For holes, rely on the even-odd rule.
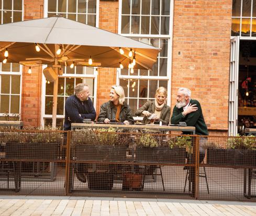
[[[169,35],[141,35],[141,34],[127,34],[121,33],[121,18],[122,18],[122,0],[119,1],[119,13],[118,13],[118,34],[129,37],[129,38],[163,38],[168,39],[168,58],[167,58],[167,74],[166,76],[131,76],[131,75],[121,75],[120,69],[117,69],[117,76],[116,76],[116,83],[119,85],[119,79],[154,79],[154,80],[166,80],[168,81],[167,90],[168,90],[168,97],[167,97],[167,104],[171,106],[171,76],[172,76],[172,40],[173,40],[173,14],[174,14],[174,0],[170,0],[170,23],[169,23]],[[140,1],[141,4],[141,1]],[[160,5],[161,7],[161,5]],[[151,8],[151,7],[150,7]],[[141,7],[140,7],[141,9]],[[138,15],[141,17],[141,15]],[[160,22],[161,23],[161,22]],[[161,30],[160,30],[161,32]],[[129,93],[129,88],[128,88]],[[126,95],[126,98],[129,98]],[[138,98],[138,97],[137,97]],[[147,98],[145,98],[147,99]]]

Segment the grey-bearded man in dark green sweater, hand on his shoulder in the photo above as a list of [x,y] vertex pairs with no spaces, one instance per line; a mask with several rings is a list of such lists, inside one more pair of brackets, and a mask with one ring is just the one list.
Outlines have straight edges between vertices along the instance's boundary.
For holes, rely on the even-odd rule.
[[[177,103],[173,108],[171,123],[179,124],[180,121],[185,121],[187,126],[195,127],[197,135],[209,135],[201,105],[197,100],[191,99],[191,90],[179,88],[176,100]],[[203,145],[206,142],[207,138],[204,137],[199,140],[199,163],[204,160],[205,150]]]

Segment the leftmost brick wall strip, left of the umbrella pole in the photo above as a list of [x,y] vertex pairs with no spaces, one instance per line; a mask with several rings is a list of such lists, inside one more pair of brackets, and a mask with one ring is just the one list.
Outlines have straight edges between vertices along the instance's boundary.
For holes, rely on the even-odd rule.
[[[24,20],[43,17],[43,0],[24,0]],[[41,77],[42,68],[28,67],[23,69],[23,88],[21,93],[21,121],[24,126],[38,127],[40,125],[41,109]]]

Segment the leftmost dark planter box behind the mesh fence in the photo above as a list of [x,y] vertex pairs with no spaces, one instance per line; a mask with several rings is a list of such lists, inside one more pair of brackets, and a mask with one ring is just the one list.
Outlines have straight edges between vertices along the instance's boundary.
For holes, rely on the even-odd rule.
[[7,159],[58,160],[59,143],[17,143],[7,142]]

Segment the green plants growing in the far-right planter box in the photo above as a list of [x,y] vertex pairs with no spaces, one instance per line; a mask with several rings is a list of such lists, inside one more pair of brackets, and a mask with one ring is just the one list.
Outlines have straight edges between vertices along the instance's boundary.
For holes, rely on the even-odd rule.
[[227,149],[256,150],[256,138],[253,135],[237,138],[228,138]]

